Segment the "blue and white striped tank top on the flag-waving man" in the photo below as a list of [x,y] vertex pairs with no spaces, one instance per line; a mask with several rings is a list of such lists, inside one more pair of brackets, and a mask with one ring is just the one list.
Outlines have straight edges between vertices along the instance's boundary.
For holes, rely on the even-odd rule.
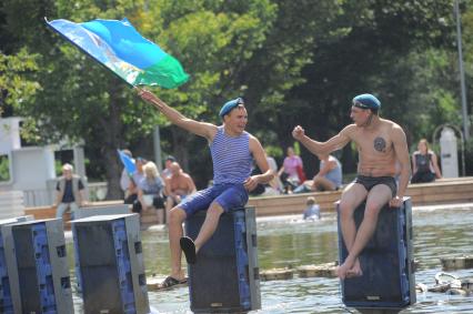
[[253,158],[250,153],[250,134],[228,136],[223,125],[218,126],[210,144],[213,163],[213,184],[243,183],[251,174]]

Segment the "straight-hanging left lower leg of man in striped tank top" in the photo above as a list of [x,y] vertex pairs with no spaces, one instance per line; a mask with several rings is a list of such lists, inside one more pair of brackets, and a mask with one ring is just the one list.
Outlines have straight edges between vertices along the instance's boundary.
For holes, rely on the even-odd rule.
[[177,280],[185,277],[181,269],[181,246],[179,240],[183,235],[182,222],[185,220],[185,212],[180,207],[174,207],[169,213],[169,247],[171,249],[171,276]]

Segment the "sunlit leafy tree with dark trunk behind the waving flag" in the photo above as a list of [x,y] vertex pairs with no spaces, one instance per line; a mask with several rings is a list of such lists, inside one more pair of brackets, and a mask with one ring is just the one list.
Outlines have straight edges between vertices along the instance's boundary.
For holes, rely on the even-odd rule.
[[[32,1],[26,10],[14,1],[6,2],[7,28],[31,51],[40,53],[36,75],[41,91],[34,102],[17,107],[20,114],[33,117],[44,141],[68,136],[83,139],[88,153],[100,155],[109,182],[108,197],[118,199],[120,164],[115,150],[133,138],[149,134],[155,123],[164,124],[150,105],[134,97],[128,87],[88,57],[41,28],[33,32],[39,11],[72,21],[92,18],[121,19],[125,14],[144,37],[182,61],[192,80],[181,90],[157,92],[171,105],[194,119],[204,119],[215,103],[234,90],[239,63],[261,44],[273,17],[269,1],[56,1],[54,7]],[[32,3],[31,3],[32,4]],[[31,8],[31,10],[29,10]],[[48,9],[48,10],[47,10]],[[21,23],[29,17],[29,23]],[[34,22],[31,22],[33,20]],[[19,44],[19,42],[13,42]],[[243,44],[244,43],[244,44]],[[218,101],[217,101],[218,100]],[[174,148],[185,146],[189,136],[171,129]],[[184,144],[184,145],[182,145]],[[185,160],[187,150],[179,150]]]

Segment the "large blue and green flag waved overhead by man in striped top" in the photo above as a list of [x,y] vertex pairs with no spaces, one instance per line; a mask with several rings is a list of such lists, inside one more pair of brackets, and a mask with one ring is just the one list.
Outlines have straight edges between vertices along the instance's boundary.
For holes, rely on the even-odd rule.
[[46,22],[133,87],[172,89],[189,79],[175,58],[143,38],[127,18],[83,23],[62,19]]

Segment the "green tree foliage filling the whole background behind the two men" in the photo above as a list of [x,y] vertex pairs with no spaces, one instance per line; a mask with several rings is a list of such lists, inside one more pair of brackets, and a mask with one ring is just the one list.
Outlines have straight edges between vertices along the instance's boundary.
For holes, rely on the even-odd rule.
[[[462,1],[467,82],[473,74],[471,2]],[[30,118],[26,121],[29,141],[84,140],[90,169],[97,169],[92,175],[104,174],[110,182],[119,172],[114,150],[142,148],[151,154],[149,138],[158,123],[163,151],[182,154],[178,158],[207,182],[211,171],[204,141],[169,125],[124,83],[42,21],[43,17],[76,22],[127,17],[191,74],[178,90],[153,88],[159,97],[189,118],[213,123],[220,123],[217,112],[224,101],[244,97],[249,131],[276,158],[293,144],[291,130],[296,124],[318,140],[339,132],[351,122],[351,99],[362,92],[380,97],[382,117],[401,124],[411,143],[430,138],[436,125],[460,125],[452,1],[314,3],[4,0],[0,109]],[[355,171],[354,152],[351,146],[343,151],[345,171]],[[304,149],[301,153],[309,156]]]

